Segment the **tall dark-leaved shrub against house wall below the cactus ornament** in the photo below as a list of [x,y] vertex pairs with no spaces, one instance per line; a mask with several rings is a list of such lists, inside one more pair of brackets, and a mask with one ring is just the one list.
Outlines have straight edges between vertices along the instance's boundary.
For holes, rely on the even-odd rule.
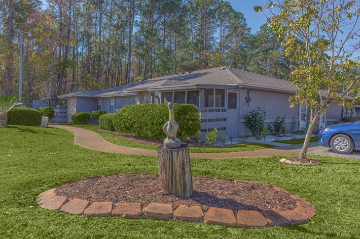
[[247,127],[256,139],[261,139],[266,133],[265,118],[266,111],[259,106],[245,116]]

